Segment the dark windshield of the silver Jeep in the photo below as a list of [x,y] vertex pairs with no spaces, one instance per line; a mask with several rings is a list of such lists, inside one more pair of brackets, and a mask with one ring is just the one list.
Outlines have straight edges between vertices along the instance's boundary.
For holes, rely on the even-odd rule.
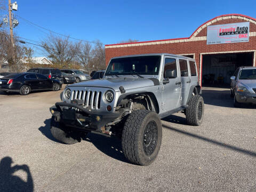
[[140,56],[112,59],[105,76],[111,75],[158,75],[161,56]]

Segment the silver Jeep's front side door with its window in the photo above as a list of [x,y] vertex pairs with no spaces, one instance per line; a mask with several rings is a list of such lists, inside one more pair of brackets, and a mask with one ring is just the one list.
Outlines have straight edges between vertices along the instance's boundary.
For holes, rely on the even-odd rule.
[[[173,71],[173,75],[168,75]],[[177,60],[171,57],[164,58],[163,84],[162,84],[162,109],[173,110],[178,108],[180,99],[180,76]]]

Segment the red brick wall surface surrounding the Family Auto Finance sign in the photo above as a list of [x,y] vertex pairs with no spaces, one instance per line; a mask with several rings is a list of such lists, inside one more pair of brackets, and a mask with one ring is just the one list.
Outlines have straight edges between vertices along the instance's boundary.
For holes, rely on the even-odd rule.
[[[235,22],[246,22],[246,20],[231,18],[231,19],[216,21],[211,25],[222,25],[226,23],[235,23]],[[253,22],[250,22],[250,32],[256,32],[256,24],[255,24],[256,21],[255,23]],[[206,36],[206,33],[207,33],[206,30],[207,30],[207,27],[203,28],[201,31],[199,31],[197,35],[195,35],[195,37]],[[173,43],[172,41],[172,43],[134,46],[136,44],[138,45],[138,43],[124,44],[125,47],[111,47],[111,48],[108,48],[108,45],[107,45],[105,50],[106,65],[108,64],[111,58],[122,56],[122,55],[133,55],[133,54],[143,54],[143,53],[172,53],[172,54],[190,54],[191,53],[191,54],[195,54],[198,74],[200,74],[199,73],[200,53],[256,50],[256,36],[250,36],[249,42],[245,42],[245,43],[227,43],[227,44],[213,44],[213,45],[206,45],[206,40],[204,40],[204,41],[188,41],[188,42],[178,42],[178,43]],[[159,43],[161,43],[161,41],[159,41]]]

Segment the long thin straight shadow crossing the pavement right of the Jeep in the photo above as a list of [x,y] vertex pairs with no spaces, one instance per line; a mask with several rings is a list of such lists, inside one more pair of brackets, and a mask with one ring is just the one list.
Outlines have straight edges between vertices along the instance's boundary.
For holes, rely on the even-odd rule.
[[210,142],[210,143],[212,143],[214,145],[218,145],[220,147],[224,147],[224,148],[227,148],[227,149],[231,149],[231,150],[237,151],[239,153],[243,153],[245,155],[250,155],[250,156],[256,157],[256,153],[254,151],[250,151],[250,150],[242,149],[242,148],[239,148],[239,147],[231,146],[231,145],[228,145],[226,143],[222,143],[222,142],[219,142],[219,141],[215,141],[213,139],[202,137],[202,136],[194,134],[194,133],[189,133],[189,132],[186,132],[186,131],[175,129],[175,128],[170,127],[170,126],[164,125],[164,127],[166,127],[167,129],[170,129],[172,131],[175,131],[175,132],[178,132],[178,133],[181,133],[181,134],[185,134],[185,135],[187,135],[189,137],[200,139],[200,140],[203,140],[203,141],[206,141],[206,142]]

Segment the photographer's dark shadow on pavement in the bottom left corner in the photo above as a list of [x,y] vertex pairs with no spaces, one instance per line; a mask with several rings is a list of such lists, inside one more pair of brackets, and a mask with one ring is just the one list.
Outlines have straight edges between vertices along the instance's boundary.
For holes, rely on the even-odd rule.
[[[12,166],[12,163],[11,157],[4,157],[0,162],[0,191],[34,191],[34,183],[28,165]],[[19,170],[26,172],[26,181],[14,175]]]

